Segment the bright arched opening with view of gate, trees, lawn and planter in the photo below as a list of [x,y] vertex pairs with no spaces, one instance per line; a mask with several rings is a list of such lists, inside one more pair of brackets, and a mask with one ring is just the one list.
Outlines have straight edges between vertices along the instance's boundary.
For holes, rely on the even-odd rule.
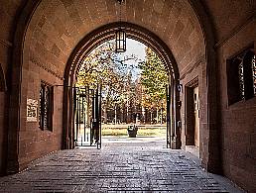
[[103,42],[76,69],[70,116],[74,145],[100,146],[102,140],[102,145],[141,141],[170,146],[168,68],[143,43],[128,37],[126,45],[127,50],[118,53],[114,39]]

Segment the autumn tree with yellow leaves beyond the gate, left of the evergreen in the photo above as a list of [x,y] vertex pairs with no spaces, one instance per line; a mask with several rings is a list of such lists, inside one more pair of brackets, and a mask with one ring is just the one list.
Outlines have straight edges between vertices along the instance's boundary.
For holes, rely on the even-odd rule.
[[[129,70],[136,55],[122,56],[114,51],[114,41],[108,41],[94,48],[82,61],[77,76],[77,86],[95,88],[102,86],[102,108],[104,122],[107,122],[107,110],[114,110],[117,120],[117,108],[129,104],[131,96],[131,77]],[[129,65],[129,66],[128,66]]]

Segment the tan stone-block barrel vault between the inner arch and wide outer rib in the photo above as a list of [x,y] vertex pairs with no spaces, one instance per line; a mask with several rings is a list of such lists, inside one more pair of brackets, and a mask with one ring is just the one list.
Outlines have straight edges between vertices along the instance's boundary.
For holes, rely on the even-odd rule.
[[[119,20],[118,6],[114,0],[43,0],[26,36],[30,62],[64,74],[83,37]],[[123,21],[148,29],[171,48],[181,70],[204,54],[202,31],[187,0],[127,0],[122,9]]]

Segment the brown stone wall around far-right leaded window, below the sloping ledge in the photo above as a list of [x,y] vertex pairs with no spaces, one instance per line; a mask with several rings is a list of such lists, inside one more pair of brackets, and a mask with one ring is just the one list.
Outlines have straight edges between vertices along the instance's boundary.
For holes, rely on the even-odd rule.
[[255,29],[253,20],[217,49],[223,172],[248,190],[256,189],[256,97],[228,105],[226,63],[243,48],[256,46]]

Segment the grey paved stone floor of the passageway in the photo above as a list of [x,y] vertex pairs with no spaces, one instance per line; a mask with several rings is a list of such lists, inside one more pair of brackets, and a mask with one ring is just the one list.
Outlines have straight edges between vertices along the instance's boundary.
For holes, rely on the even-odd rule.
[[0,178],[0,192],[241,192],[183,150],[113,142],[40,158],[26,171]]

